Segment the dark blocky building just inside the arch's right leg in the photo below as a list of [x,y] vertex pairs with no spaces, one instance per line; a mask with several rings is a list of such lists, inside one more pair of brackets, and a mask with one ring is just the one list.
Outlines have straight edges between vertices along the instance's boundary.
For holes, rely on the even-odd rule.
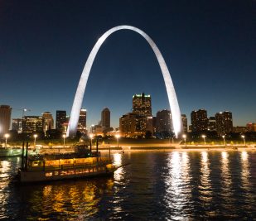
[[157,112],[156,131],[172,132],[171,111],[162,110]]

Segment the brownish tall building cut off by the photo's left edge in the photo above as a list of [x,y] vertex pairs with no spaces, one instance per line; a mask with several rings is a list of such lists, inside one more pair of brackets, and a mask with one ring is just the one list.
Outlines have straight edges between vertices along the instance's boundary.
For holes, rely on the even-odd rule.
[[7,133],[11,124],[12,108],[8,105],[0,106],[0,136]]

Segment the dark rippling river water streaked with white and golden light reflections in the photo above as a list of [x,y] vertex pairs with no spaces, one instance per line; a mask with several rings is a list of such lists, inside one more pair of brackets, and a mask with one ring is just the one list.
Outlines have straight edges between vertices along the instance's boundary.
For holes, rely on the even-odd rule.
[[19,157],[0,158],[0,219],[256,220],[256,151],[113,153],[113,176],[11,183]]

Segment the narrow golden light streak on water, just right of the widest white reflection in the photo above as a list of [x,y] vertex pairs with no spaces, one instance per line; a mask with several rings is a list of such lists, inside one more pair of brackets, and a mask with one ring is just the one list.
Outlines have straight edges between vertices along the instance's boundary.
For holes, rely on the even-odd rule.
[[200,199],[205,202],[210,202],[212,199],[212,190],[210,185],[210,161],[207,151],[200,153]]

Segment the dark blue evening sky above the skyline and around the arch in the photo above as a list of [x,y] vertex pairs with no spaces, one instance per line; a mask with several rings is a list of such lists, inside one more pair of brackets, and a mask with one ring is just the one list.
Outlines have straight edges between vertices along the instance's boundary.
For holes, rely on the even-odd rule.
[[[109,28],[131,25],[161,50],[181,113],[229,110],[234,125],[256,122],[255,2],[243,1],[1,1],[0,104],[29,114],[70,109],[85,60]],[[83,107],[88,125],[104,107],[111,123],[152,95],[152,113],[168,108],[157,59],[133,31],[118,31],[99,50]],[[12,118],[22,112],[12,111]]]

